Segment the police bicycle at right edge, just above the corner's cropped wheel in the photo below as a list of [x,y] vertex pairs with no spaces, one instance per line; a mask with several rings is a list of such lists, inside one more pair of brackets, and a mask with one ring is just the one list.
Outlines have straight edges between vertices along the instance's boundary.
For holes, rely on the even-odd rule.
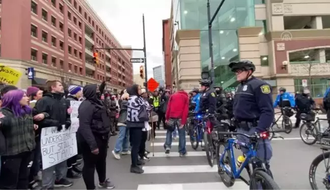
[[[319,118],[320,108],[315,107],[312,110],[316,112],[316,115],[314,113],[300,114],[300,119],[303,120],[303,124],[300,126],[300,138],[307,145],[313,145],[316,142],[320,142],[321,138],[328,135],[330,132],[329,128],[323,130],[323,127],[321,127],[320,121],[328,121],[328,119]],[[306,136],[306,139],[304,136]]]

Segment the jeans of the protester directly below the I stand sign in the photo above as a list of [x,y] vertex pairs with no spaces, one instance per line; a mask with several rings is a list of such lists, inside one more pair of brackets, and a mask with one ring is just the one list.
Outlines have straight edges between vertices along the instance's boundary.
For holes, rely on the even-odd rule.
[[[42,187],[52,188],[54,186],[55,180],[61,180],[64,176],[66,176],[68,168],[67,168],[67,160],[60,162],[59,164],[49,167],[42,171]],[[54,175],[55,171],[55,175]]]

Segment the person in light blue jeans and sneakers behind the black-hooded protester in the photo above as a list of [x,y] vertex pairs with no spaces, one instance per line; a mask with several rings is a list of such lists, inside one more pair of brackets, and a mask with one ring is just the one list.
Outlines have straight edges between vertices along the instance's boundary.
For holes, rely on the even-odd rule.
[[122,155],[130,154],[129,148],[129,130],[126,127],[127,118],[127,102],[129,99],[129,94],[124,93],[120,99],[120,113],[118,118],[119,134],[116,141],[114,150],[112,151],[116,159],[120,159]]

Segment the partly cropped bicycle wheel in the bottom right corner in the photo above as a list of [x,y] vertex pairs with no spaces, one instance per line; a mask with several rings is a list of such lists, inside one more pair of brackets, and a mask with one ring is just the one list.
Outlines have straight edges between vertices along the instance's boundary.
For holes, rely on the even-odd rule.
[[[324,152],[320,155],[318,155],[313,161],[312,164],[310,166],[310,170],[309,170],[309,178],[310,178],[310,184],[313,190],[318,190],[318,189],[329,189],[330,188],[330,174],[328,172],[329,170],[329,157],[330,157],[330,152]],[[327,160],[326,160],[327,159]],[[324,161],[323,161],[324,160]],[[322,174],[323,172],[319,173],[317,175],[315,175],[316,173],[316,169],[318,169],[319,166],[320,167],[324,167],[325,171],[324,174]],[[319,179],[315,179],[316,176],[319,177]],[[317,184],[317,181],[319,182]]]

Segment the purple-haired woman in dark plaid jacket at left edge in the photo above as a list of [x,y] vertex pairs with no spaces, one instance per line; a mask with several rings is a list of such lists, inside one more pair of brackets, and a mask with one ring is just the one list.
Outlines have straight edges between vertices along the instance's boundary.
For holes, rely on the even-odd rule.
[[34,130],[38,126],[33,124],[29,97],[22,90],[7,92],[2,101],[0,189],[28,189],[29,168],[36,146]]

